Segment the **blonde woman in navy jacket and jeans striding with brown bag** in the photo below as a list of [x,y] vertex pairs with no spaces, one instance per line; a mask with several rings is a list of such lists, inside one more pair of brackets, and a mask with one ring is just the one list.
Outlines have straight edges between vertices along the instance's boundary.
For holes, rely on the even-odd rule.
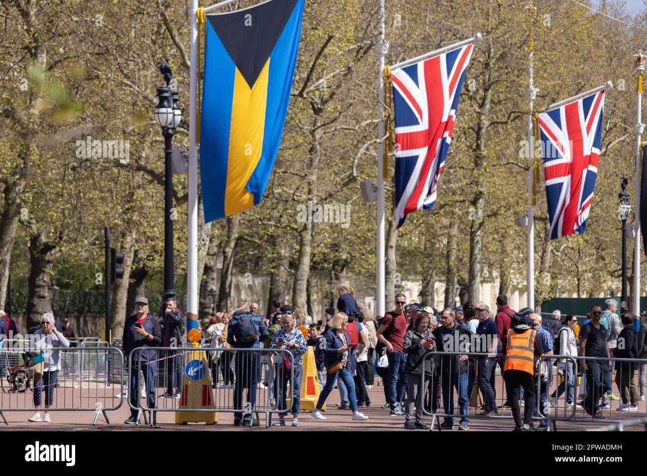
[[348,322],[345,312],[338,312],[329,322],[331,329],[325,334],[325,348],[323,349],[323,364],[326,367],[325,385],[319,395],[313,417],[317,420],[325,420],[321,409],[326,398],[333,391],[334,380],[339,377],[348,389],[348,400],[353,411],[353,420],[368,420],[368,416],[357,411],[357,397],[355,395],[355,383],[353,382],[352,369],[348,369],[349,355],[353,351],[349,344],[349,336],[344,331]]

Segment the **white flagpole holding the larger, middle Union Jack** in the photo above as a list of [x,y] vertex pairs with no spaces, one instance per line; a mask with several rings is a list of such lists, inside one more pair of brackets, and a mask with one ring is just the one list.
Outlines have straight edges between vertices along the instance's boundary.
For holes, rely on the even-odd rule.
[[377,147],[377,246],[375,261],[377,264],[377,283],[375,289],[375,315],[384,316],[385,312],[385,260],[384,254],[384,56],[386,41],[384,34],[384,0],[380,0],[380,109],[381,120],[377,125],[377,136],[380,139]]

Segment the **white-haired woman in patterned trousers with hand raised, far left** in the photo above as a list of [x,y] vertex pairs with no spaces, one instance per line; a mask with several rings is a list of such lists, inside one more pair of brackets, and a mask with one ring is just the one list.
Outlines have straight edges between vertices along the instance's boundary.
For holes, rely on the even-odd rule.
[[[70,341],[54,327],[54,314],[45,312],[41,316],[41,329],[36,330],[33,336],[34,354],[38,356],[43,352],[43,374],[34,382],[34,407],[36,413],[29,418],[30,422],[50,422],[47,409],[54,403],[54,388],[58,382],[58,371],[61,369],[61,359],[59,347],[70,347]],[[34,359],[36,360],[36,356]],[[42,392],[45,391],[45,415],[41,418],[38,409],[41,406]]]

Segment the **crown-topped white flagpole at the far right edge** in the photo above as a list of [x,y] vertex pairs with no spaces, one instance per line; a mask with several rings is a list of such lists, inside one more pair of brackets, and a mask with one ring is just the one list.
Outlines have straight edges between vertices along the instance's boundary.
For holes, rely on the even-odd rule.
[[[640,326],[641,315],[641,136],[644,124],[641,122],[642,109],[642,71],[644,70],[645,56],[640,51],[635,55],[635,68],[638,70],[638,84],[636,87],[636,208],[634,210],[634,240],[633,246],[633,321],[636,329]],[[629,303],[627,303],[629,304]]]

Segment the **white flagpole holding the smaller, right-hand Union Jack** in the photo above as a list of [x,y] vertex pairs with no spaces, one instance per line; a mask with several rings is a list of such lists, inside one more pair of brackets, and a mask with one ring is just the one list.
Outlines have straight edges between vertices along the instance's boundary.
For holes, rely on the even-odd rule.
[[[532,41],[532,40],[531,40]],[[528,301],[527,307],[534,309],[534,204],[532,202],[532,188],[534,184],[534,134],[532,133],[532,107],[534,105],[534,98],[538,89],[532,85],[532,58],[534,56],[533,47],[529,48],[528,52],[528,72],[529,72],[529,87],[530,94],[528,96],[529,114],[528,114],[528,157],[530,158],[530,168],[528,169],[528,213],[527,213],[527,294]]]

